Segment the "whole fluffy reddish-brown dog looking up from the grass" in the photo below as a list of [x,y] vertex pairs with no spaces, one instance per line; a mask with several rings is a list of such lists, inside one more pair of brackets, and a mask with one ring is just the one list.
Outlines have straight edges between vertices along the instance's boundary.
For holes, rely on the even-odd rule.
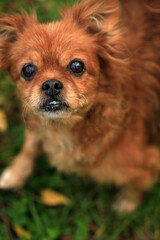
[[27,125],[0,187],[22,187],[43,149],[60,171],[121,187],[113,207],[132,212],[159,171],[159,1],[86,0],[60,14],[0,18],[0,69]]

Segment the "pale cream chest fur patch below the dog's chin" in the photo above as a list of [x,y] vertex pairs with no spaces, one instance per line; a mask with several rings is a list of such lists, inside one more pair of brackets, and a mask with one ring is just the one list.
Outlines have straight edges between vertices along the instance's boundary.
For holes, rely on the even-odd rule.
[[44,151],[48,154],[51,165],[58,167],[59,170],[72,171],[76,165],[91,161],[90,156],[71,132],[58,129],[43,130],[41,134]]

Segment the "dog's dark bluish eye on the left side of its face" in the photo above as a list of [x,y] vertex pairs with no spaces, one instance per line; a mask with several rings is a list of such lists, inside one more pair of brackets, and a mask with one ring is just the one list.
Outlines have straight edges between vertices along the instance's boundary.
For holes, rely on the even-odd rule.
[[30,81],[34,78],[36,71],[37,69],[32,63],[27,63],[23,66],[21,75],[25,80]]

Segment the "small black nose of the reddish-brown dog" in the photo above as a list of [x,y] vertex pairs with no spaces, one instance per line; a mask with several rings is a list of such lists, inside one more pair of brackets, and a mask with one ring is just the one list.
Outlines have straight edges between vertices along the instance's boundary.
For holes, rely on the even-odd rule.
[[61,90],[63,89],[63,84],[58,80],[48,80],[43,83],[42,91],[47,96],[55,96],[60,94]]

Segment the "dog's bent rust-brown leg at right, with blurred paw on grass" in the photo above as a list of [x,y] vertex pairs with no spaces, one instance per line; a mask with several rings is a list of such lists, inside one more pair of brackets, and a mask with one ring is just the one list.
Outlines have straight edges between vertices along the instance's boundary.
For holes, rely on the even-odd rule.
[[[118,212],[129,213],[136,210],[142,203],[144,194],[152,187],[159,172],[159,150],[154,146],[146,148],[131,147],[123,151],[120,165],[126,176],[126,183],[113,204]],[[119,170],[120,170],[119,165]],[[122,170],[123,169],[123,170]]]

